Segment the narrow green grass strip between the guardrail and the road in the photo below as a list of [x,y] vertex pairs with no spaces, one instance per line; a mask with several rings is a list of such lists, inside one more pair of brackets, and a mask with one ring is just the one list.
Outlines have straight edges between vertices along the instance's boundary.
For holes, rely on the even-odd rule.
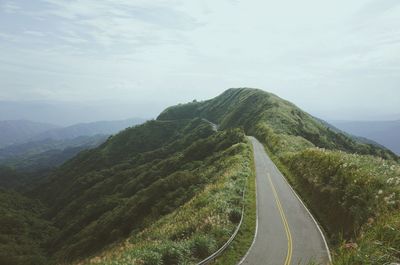
[[217,258],[213,263],[216,265],[237,264],[249,250],[253,239],[256,227],[257,209],[256,209],[256,179],[254,158],[251,157],[252,174],[249,177],[249,182],[246,190],[245,211],[243,223],[238,234],[231,245]]

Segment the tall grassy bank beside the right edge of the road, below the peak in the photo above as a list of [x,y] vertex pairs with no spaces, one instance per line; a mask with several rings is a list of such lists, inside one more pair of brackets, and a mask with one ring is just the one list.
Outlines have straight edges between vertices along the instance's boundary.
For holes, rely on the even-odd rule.
[[272,130],[258,132],[323,225],[334,264],[400,262],[398,160],[318,148]]

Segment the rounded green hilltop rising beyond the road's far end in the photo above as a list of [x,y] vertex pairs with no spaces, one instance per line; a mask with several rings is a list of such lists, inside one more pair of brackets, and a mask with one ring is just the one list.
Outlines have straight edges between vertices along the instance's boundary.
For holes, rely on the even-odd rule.
[[[158,120],[206,118],[221,129],[241,127],[249,135],[269,137],[270,147],[283,143],[295,151],[302,147],[320,147],[351,153],[378,155],[398,159],[391,151],[373,144],[365,144],[344,133],[332,130],[329,125],[302,111],[293,103],[260,89],[232,88],[203,102],[172,106],[163,111]],[[273,134],[273,135],[272,135]],[[289,151],[288,149],[282,151]]]

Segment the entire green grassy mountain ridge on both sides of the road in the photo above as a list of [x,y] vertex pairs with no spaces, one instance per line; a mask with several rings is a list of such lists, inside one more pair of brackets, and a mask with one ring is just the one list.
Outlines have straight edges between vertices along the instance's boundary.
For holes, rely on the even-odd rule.
[[[399,157],[274,94],[236,88],[169,107],[28,191],[0,190],[16,198],[0,204],[12,213],[0,215],[0,264],[197,264],[240,220],[253,175],[246,134],[318,217],[338,264],[398,261]],[[354,241],[354,253],[342,244]]]

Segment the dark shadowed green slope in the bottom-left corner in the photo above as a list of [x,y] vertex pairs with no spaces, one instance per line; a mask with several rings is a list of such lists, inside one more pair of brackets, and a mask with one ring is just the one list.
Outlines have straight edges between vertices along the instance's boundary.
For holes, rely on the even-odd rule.
[[0,264],[45,264],[44,243],[56,233],[42,218],[43,205],[0,189]]

